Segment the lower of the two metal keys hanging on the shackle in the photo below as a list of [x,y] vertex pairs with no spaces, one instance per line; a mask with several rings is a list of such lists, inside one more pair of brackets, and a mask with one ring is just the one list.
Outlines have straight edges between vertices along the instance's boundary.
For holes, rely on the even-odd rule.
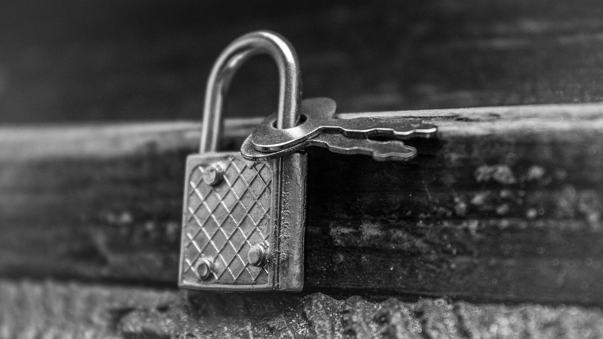
[[407,146],[399,140],[375,141],[365,138],[350,138],[334,133],[322,133],[291,148],[271,153],[257,151],[253,148],[251,139],[247,138],[241,147],[241,153],[247,160],[265,161],[294,153],[308,146],[324,147],[339,154],[365,154],[372,156],[377,161],[406,161],[417,155],[416,148]]

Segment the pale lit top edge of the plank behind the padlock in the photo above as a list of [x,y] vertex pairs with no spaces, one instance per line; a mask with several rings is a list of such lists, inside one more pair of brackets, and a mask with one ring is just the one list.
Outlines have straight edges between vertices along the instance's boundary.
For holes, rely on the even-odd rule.
[[[463,109],[339,113],[338,118],[420,118],[441,136],[603,130],[603,104],[543,104]],[[244,138],[262,117],[226,119],[226,138]],[[199,122],[139,122],[0,128],[0,162],[52,157],[115,157],[154,148],[197,148]]]

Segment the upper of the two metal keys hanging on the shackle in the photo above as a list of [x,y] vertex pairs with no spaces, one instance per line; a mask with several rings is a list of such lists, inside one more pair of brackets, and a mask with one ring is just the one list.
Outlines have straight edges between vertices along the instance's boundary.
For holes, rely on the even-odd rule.
[[[421,136],[428,138],[435,133],[434,125],[418,120],[391,121],[380,118],[336,119],[335,101],[329,98],[311,98],[301,102],[301,123],[292,128],[274,126],[276,115],[264,119],[251,133],[253,148],[261,152],[289,149],[315,138],[321,133],[335,133],[351,138],[390,136],[396,139]],[[300,148],[298,148],[300,149]]]

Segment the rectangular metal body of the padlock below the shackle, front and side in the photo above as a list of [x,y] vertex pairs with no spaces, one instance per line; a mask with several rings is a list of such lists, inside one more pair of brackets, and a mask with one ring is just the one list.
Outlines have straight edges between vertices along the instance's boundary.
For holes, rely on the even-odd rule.
[[[297,191],[303,190],[305,206],[305,154],[303,159],[303,187]],[[282,162],[250,162],[241,153],[188,157],[178,278],[181,287],[224,291],[301,289],[305,211],[286,216],[285,227],[280,227],[280,193],[291,186],[281,183]],[[213,173],[204,180],[210,164],[223,170],[222,179],[213,185]],[[291,223],[294,227],[289,226]],[[279,237],[286,239],[281,242]],[[298,239],[301,247],[290,243]],[[250,265],[247,259],[251,246],[256,244],[267,255],[265,264],[259,267]],[[291,259],[301,262],[301,274],[288,268]],[[279,274],[281,263],[284,270]]]

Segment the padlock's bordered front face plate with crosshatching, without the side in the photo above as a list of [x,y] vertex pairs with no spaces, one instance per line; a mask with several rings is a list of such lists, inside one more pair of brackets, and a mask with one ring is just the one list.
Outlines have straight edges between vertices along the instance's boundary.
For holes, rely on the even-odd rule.
[[[276,265],[253,267],[246,255],[253,244],[276,242],[278,162],[250,163],[239,153],[188,157],[180,286],[236,291],[274,288]],[[212,163],[224,169],[218,185],[204,181]],[[211,275],[204,279],[195,267],[201,258],[213,262]]]

